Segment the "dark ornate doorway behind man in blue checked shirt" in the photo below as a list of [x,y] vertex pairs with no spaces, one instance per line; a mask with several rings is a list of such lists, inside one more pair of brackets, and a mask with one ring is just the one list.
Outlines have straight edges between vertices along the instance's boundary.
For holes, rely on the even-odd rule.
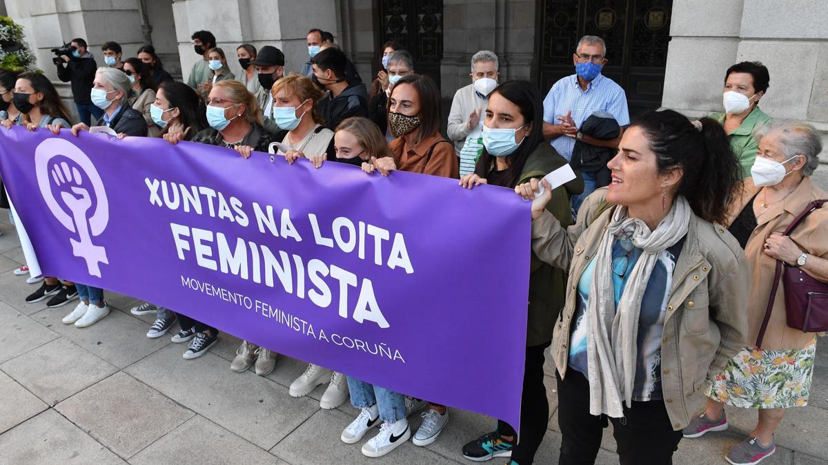
[[590,35],[607,43],[603,74],[627,93],[630,117],[661,106],[672,0],[540,0],[537,9],[537,79],[544,95],[575,73],[575,46]]

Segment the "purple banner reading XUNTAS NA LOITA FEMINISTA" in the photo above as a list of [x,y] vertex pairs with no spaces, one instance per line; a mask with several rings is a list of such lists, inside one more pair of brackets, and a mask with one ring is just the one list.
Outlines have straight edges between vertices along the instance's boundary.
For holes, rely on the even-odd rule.
[[0,172],[46,276],[520,424],[531,232],[508,189],[22,127]]

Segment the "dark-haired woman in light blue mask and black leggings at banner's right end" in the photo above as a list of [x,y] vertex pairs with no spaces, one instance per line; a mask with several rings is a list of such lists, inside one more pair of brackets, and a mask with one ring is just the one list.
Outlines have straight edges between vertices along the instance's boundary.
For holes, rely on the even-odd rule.
[[[526,81],[508,81],[489,97],[483,125],[484,151],[474,173],[460,185],[499,185],[514,189],[528,180],[538,180],[566,165],[566,159],[543,140],[541,94]],[[567,187],[584,188],[579,178],[551,191],[546,210],[562,225],[572,223]],[[532,463],[549,422],[549,401],[543,384],[543,352],[551,344],[555,319],[564,305],[566,272],[540,261],[532,254],[529,275],[526,359],[523,372],[520,442],[512,425],[498,420],[493,432],[466,443],[463,456],[475,462],[493,457],[511,457],[514,463]]]

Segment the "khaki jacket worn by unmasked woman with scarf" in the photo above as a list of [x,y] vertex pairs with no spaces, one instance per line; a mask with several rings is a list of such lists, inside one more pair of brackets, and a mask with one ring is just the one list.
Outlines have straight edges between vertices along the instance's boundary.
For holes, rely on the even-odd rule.
[[[569,271],[566,306],[551,355],[566,376],[576,286],[607,234],[615,207],[606,188],[586,198],[578,222],[565,228],[546,212],[532,221],[532,251]],[[605,208],[609,207],[609,208]],[[662,395],[673,429],[690,423],[691,400],[748,341],[750,267],[739,242],[718,224],[692,215],[673,271],[662,332]],[[607,290],[612,292],[612,290]]]

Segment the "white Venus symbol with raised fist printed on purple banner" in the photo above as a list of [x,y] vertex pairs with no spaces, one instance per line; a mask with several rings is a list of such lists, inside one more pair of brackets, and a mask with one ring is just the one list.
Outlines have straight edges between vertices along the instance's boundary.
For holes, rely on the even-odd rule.
[[[74,161],[77,166],[70,166],[66,161],[60,160],[50,163],[55,157],[61,156]],[[99,264],[108,264],[109,261],[106,249],[94,245],[92,237],[99,236],[106,228],[109,222],[109,204],[98,170],[89,156],[77,146],[57,138],[46,139],[37,146],[35,170],[37,185],[51,213],[64,228],[78,234],[78,240],[74,237],[69,239],[72,254],[84,258],[90,275],[101,277]],[[88,181],[84,182],[84,176]],[[53,186],[60,192],[60,201],[55,199]],[[94,194],[94,211],[91,209],[93,197],[89,194],[89,188]],[[69,209],[72,216],[65,212],[61,203]]]

